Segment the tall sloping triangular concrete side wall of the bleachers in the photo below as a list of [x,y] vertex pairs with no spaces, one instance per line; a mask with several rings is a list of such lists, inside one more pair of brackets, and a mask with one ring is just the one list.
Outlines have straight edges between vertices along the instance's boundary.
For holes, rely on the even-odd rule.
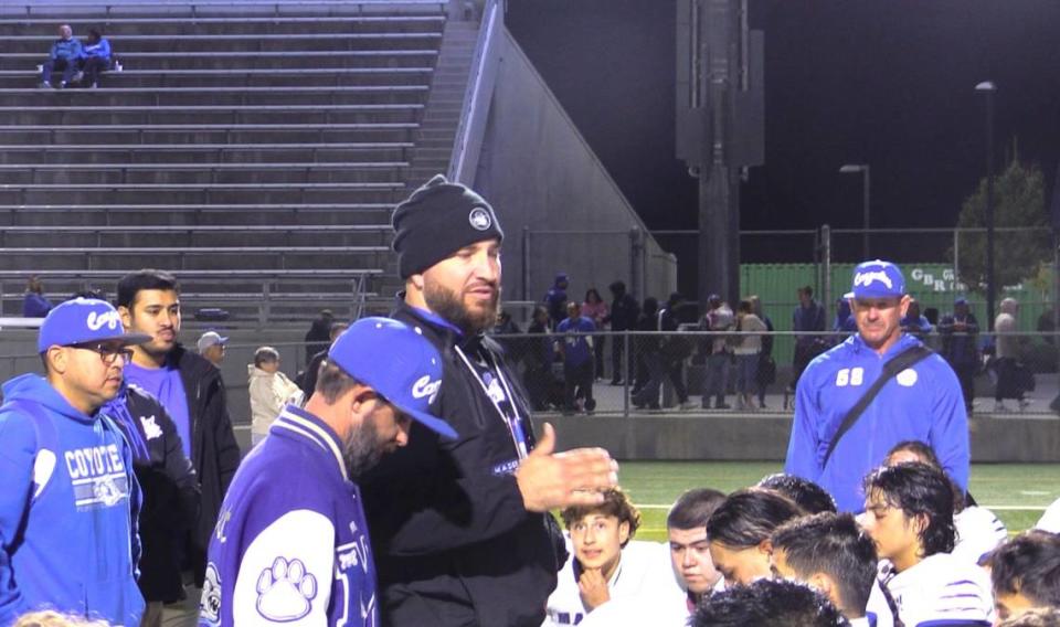
[[[675,258],[647,235],[507,29],[498,54],[474,187],[505,227],[506,298],[540,300],[558,270],[570,274],[570,294],[579,299],[592,286],[608,298],[615,279],[637,297],[665,298],[677,284]],[[643,242],[642,263],[634,262],[635,241]]]

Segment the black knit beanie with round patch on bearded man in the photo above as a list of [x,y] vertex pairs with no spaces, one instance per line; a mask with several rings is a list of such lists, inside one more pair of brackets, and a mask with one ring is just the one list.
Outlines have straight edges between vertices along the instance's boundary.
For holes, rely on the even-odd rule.
[[394,210],[394,251],[401,278],[421,273],[468,244],[504,240],[483,196],[437,174]]

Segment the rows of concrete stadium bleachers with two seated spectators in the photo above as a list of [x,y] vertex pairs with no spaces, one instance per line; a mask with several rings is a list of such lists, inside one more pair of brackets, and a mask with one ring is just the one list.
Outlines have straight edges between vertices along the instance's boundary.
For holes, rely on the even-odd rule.
[[[448,164],[477,23],[437,0],[22,1],[0,7],[4,314],[29,274],[113,295],[139,267],[258,325],[389,300],[390,211]],[[62,22],[123,71],[39,88]]]

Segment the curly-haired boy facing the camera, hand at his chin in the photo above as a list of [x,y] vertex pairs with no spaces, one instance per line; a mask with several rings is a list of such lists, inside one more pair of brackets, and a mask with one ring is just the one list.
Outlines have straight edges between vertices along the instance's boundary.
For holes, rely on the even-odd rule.
[[653,567],[661,563],[658,545],[630,543],[640,512],[621,488],[603,495],[600,504],[560,512],[573,551],[549,596],[545,625],[577,625],[613,598],[640,594],[659,574],[660,568]]

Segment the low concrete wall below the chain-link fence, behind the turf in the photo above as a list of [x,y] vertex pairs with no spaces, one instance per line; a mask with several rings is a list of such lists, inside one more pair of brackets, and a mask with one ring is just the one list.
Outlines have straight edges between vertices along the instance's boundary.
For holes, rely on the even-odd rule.
[[[787,454],[792,419],[765,416],[642,416],[547,418],[560,449],[601,446],[617,459],[776,460]],[[545,418],[534,418],[537,428]],[[973,461],[1060,461],[1056,417],[976,418]]]

